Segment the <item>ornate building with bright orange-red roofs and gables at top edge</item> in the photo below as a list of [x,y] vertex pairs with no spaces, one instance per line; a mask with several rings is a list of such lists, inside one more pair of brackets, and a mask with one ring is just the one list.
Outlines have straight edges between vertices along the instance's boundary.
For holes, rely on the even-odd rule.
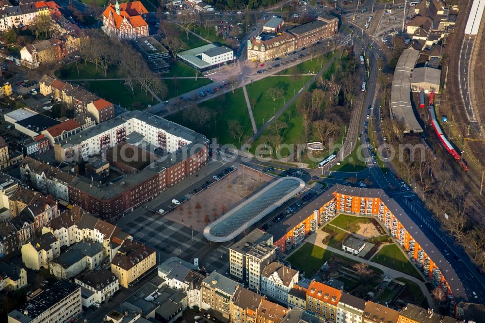
[[148,11],[140,1],[109,3],[103,12],[103,29],[119,39],[136,39],[148,36]]

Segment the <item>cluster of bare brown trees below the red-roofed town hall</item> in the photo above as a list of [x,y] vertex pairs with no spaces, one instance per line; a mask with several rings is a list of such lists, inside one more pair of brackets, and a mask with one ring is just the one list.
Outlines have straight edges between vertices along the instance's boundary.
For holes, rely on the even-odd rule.
[[149,92],[152,99],[155,95],[166,95],[165,83],[150,71],[141,54],[118,39],[99,30],[90,30],[81,50],[85,63],[94,64],[96,70],[100,69],[105,77],[108,76],[109,69],[119,69],[133,95],[136,86],[146,95]]

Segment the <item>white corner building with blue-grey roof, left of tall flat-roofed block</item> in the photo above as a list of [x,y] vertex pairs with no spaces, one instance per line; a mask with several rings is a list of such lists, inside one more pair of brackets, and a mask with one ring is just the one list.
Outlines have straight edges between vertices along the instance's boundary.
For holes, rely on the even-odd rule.
[[177,257],[168,258],[158,266],[158,275],[168,287],[182,290],[187,295],[187,306],[201,308],[202,280],[206,277],[198,266]]

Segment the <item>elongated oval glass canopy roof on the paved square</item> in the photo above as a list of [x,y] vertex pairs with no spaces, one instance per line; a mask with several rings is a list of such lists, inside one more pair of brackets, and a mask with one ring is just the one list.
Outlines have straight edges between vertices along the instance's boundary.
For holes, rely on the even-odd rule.
[[300,193],[305,182],[300,178],[279,178],[229,210],[204,228],[204,236],[215,242],[235,239],[242,231]]

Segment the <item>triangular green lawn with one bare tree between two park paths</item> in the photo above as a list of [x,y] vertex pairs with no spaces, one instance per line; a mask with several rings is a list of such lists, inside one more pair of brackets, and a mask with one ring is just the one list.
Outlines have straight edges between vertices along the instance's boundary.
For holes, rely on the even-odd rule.
[[[307,77],[273,76],[246,85],[247,95],[253,108],[256,127],[260,128],[265,122],[281,109],[286,101],[291,99],[310,79]],[[267,95],[270,88],[283,90],[282,97],[273,98]]]

